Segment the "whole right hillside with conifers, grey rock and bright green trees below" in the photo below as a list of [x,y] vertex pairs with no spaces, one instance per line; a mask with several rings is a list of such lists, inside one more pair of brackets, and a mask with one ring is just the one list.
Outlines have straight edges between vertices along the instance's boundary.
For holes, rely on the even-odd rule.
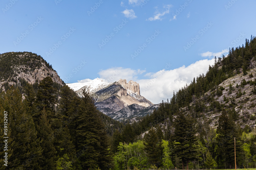
[[151,115],[131,124],[134,138],[124,142],[114,133],[118,167],[234,168],[234,138],[237,167],[256,167],[255,60],[251,36],[227,56],[215,57],[205,75],[162,101]]

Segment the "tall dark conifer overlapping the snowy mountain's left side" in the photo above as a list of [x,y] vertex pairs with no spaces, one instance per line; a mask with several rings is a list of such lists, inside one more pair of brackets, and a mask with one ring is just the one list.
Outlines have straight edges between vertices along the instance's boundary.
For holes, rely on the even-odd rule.
[[78,163],[81,169],[104,169],[111,162],[108,137],[89,92],[84,90],[83,96],[77,113]]

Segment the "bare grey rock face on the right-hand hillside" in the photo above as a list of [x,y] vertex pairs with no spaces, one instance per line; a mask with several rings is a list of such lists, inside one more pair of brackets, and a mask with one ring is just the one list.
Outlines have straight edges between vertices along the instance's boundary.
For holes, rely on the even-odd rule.
[[[235,114],[237,114],[235,119],[243,128],[245,125],[256,126],[255,73],[256,69],[252,69],[248,71],[247,75],[243,75],[243,73],[237,74],[223,81],[217,90],[213,92],[208,91],[205,94],[205,96],[214,94],[214,100],[220,104],[224,104],[226,108],[234,107]],[[250,77],[250,74],[253,77]],[[204,101],[203,98],[201,100]],[[211,104],[211,102],[205,102],[206,107],[211,107]],[[212,120],[211,126],[217,125],[219,115],[220,113],[216,111],[205,113],[205,116]]]

